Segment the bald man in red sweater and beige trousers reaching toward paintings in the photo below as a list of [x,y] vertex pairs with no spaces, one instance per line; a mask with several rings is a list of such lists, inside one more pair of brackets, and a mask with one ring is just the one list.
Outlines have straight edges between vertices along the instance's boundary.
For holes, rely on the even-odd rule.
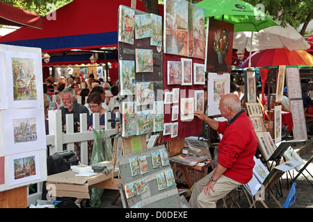
[[223,134],[218,145],[218,164],[214,171],[195,183],[189,204],[193,208],[216,208],[216,202],[239,185],[252,178],[257,151],[257,137],[252,122],[241,110],[239,96],[226,94],[218,109],[227,121],[215,121],[202,111],[195,117],[206,121],[211,128]]

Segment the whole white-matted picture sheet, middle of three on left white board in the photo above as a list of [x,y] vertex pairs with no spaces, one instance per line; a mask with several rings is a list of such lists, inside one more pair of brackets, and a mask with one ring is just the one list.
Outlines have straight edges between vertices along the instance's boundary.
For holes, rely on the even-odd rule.
[[2,123],[3,155],[47,148],[43,108],[3,110]]

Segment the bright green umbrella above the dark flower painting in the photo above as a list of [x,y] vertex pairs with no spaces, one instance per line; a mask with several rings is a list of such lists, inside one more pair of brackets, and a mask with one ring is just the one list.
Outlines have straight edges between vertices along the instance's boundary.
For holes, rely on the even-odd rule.
[[203,0],[195,5],[204,8],[204,17],[234,24],[234,31],[260,31],[278,26],[273,19],[250,3],[238,0]]

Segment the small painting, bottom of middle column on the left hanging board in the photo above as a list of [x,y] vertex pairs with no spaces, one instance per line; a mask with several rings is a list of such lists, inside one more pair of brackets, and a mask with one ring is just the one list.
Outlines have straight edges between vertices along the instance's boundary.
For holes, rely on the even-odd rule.
[[152,132],[153,116],[153,110],[137,112],[138,135]]

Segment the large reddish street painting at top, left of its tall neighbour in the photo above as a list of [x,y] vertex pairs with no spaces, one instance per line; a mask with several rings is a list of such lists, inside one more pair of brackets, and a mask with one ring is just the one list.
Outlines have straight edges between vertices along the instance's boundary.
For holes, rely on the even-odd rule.
[[165,53],[188,56],[188,1],[166,0]]

